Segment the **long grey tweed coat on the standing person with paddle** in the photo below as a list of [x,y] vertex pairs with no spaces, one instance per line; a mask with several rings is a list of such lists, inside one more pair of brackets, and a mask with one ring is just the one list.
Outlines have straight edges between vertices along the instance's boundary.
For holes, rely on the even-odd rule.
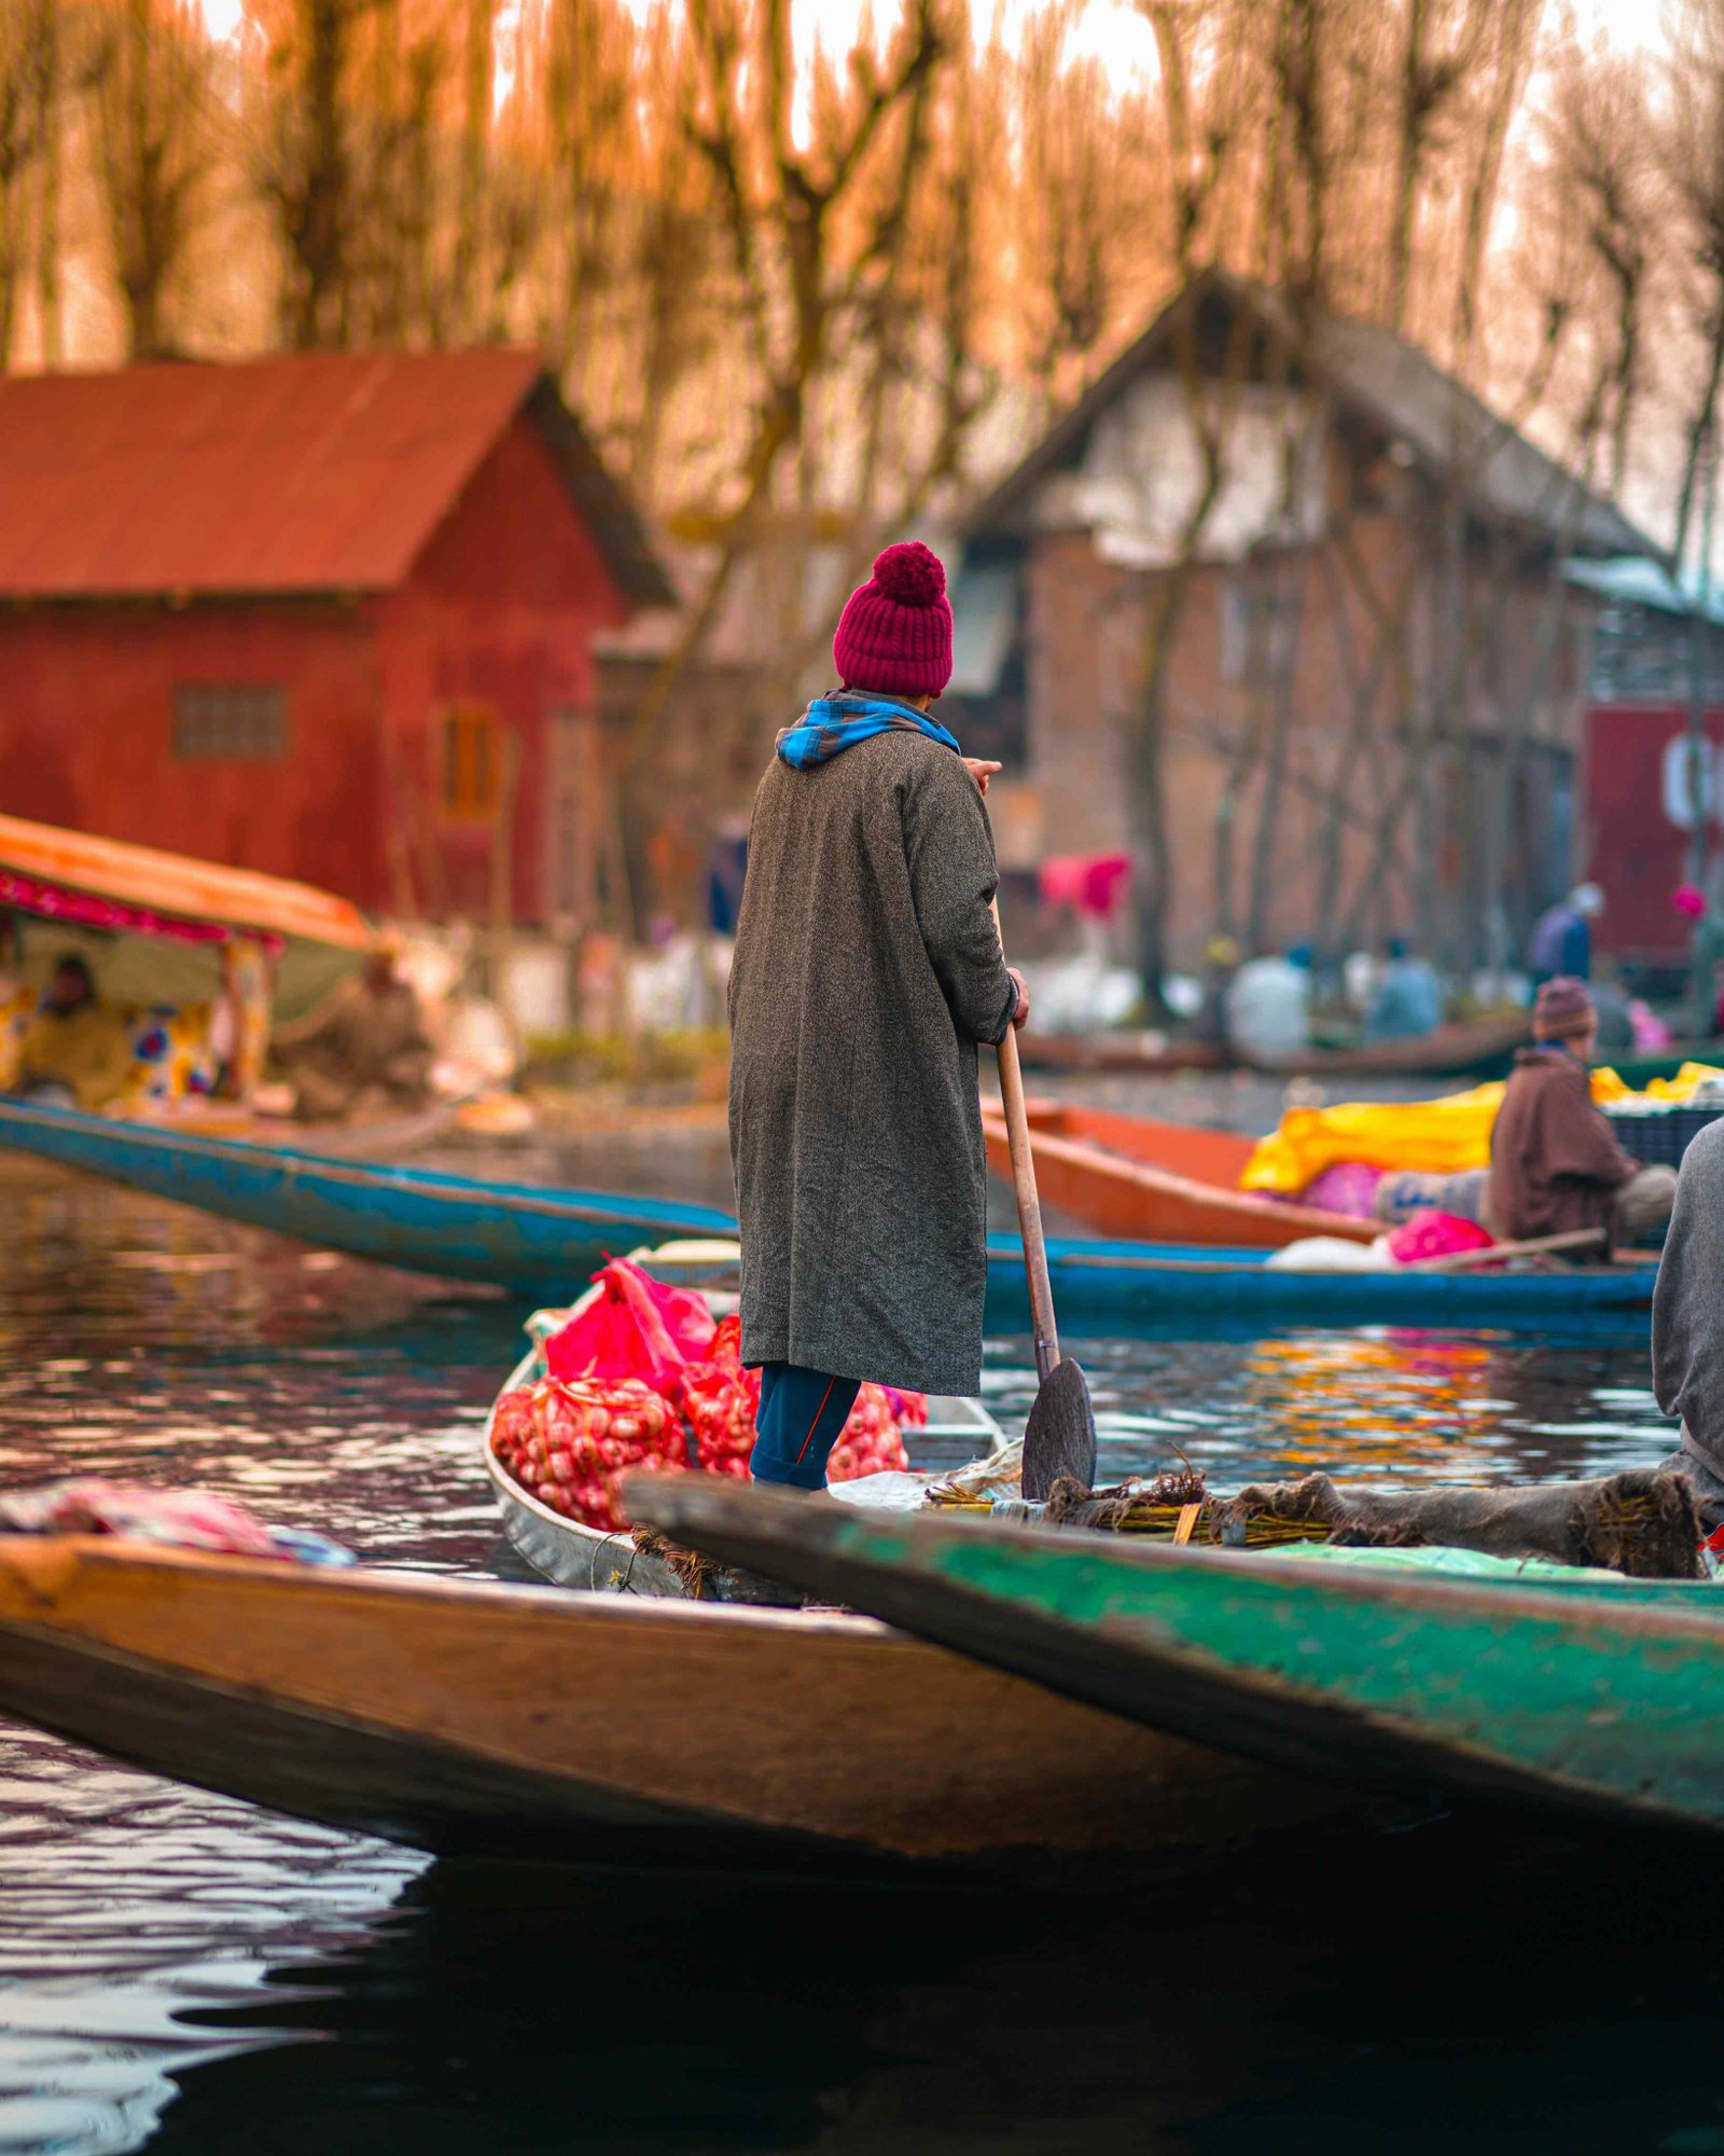
[[761,780],[731,970],[743,1363],[978,1391],[998,873],[976,783],[924,735]]

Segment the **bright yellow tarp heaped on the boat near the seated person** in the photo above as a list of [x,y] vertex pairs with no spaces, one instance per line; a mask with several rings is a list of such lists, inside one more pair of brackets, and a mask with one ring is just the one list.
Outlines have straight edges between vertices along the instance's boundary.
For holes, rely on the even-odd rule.
[[[1687,1100],[1705,1078],[1724,1078],[1711,1063],[1683,1063],[1674,1078],[1653,1078],[1640,1100]],[[1612,1069],[1593,1072],[1593,1100],[1631,1100]],[[1340,1108],[1289,1108],[1280,1130],[1259,1141],[1239,1177],[1241,1190],[1297,1197],[1338,1160],[1368,1169],[1418,1169],[1459,1175],[1491,1164],[1491,1125],[1502,1084],[1476,1084],[1444,1100],[1360,1100]]]

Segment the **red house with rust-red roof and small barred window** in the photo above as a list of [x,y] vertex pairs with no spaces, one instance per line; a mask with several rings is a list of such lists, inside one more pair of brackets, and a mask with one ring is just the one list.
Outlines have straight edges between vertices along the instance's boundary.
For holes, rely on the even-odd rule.
[[0,379],[0,808],[543,923],[595,638],[670,599],[528,351]]

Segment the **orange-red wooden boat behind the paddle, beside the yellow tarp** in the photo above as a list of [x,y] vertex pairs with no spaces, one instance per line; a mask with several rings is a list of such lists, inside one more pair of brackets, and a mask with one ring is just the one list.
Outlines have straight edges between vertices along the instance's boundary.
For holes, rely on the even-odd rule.
[[[1030,1102],[1037,1188],[1101,1235],[1131,1242],[1280,1250],[1304,1235],[1371,1242],[1375,1220],[1291,1205],[1239,1188],[1254,1138],[1233,1130],[1157,1123],[1069,1102]],[[983,1104],[987,1164],[1011,1175],[1004,1117]]]

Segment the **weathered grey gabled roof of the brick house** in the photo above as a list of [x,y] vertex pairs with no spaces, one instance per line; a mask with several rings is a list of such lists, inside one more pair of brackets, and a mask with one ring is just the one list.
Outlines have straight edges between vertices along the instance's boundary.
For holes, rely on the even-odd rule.
[[1043,479],[1069,470],[1084,455],[1097,418],[1140,377],[1172,364],[1172,341],[1187,310],[1200,321],[1246,310],[1267,341],[1304,362],[1336,399],[1368,420],[1390,442],[1403,442],[1429,472],[1465,476],[1474,509],[1500,524],[1515,524],[1556,539],[1575,554],[1657,554],[1657,545],[1603,496],[1565,472],[1534,442],[1491,412],[1472,390],[1444,373],[1405,336],[1317,313],[1299,323],[1287,298],[1207,270],[1194,278],[1099,375],[1078,403],[1043,436],[963,520],[968,537],[1015,528]]

